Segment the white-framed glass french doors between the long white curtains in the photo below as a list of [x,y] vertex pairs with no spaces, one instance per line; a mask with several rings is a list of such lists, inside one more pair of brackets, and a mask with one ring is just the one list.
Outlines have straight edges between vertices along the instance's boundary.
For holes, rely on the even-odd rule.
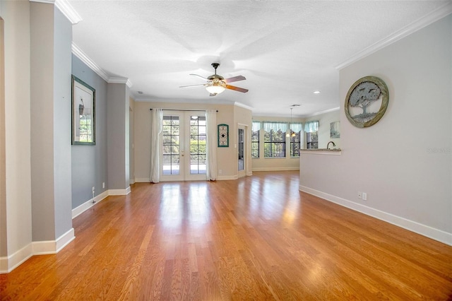
[[206,112],[163,111],[162,181],[206,179]]

